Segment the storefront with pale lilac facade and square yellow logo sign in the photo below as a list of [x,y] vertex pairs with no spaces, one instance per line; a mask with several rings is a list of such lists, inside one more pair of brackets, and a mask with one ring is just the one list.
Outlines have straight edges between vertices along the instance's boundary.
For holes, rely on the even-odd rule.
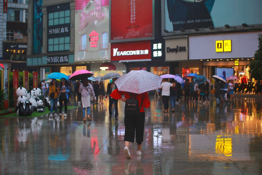
[[[262,32],[245,32],[220,35],[189,36],[189,60],[200,61],[203,75],[249,79],[246,64],[258,50],[258,35]],[[253,81],[253,80],[250,80]]]

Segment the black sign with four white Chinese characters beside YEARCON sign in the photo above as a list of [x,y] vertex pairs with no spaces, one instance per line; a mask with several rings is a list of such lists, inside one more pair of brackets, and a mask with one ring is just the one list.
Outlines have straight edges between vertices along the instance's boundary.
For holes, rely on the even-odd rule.
[[151,40],[151,59],[152,60],[164,60],[165,44],[164,40]]

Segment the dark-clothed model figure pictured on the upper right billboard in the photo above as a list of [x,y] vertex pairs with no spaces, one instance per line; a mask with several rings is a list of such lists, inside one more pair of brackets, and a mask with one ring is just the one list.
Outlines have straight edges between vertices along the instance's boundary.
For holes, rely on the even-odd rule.
[[173,31],[214,27],[210,16],[215,0],[166,0]]

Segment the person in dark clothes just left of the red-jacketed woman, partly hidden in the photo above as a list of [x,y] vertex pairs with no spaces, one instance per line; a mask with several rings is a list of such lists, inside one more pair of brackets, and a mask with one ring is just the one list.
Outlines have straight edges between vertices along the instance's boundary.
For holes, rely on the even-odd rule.
[[115,85],[115,80],[117,80],[117,78],[113,78],[112,79],[112,83],[109,83],[107,85],[107,94],[109,95],[109,119],[112,118],[112,106],[113,104],[115,104],[115,120],[118,120],[118,100],[114,99],[110,96],[110,94],[117,89],[116,85]]

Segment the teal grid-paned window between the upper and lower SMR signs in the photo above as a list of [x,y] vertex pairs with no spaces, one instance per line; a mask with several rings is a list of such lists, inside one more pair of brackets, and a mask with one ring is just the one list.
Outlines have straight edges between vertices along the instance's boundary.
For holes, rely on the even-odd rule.
[[69,51],[70,48],[70,37],[59,37],[59,38],[49,38],[48,40],[48,51]]

